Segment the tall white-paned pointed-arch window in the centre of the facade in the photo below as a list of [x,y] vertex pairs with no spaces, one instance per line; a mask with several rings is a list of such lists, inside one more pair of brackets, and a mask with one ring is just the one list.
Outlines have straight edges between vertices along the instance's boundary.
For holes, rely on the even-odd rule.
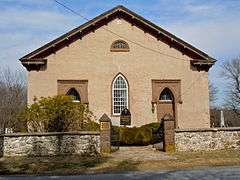
[[128,83],[121,74],[113,80],[112,106],[113,115],[120,115],[123,109],[128,109]]

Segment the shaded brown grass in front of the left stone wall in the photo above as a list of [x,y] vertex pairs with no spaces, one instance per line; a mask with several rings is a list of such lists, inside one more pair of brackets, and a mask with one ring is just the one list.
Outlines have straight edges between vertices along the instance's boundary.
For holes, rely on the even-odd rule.
[[106,157],[4,157],[0,160],[0,174],[84,173],[105,161],[107,161]]

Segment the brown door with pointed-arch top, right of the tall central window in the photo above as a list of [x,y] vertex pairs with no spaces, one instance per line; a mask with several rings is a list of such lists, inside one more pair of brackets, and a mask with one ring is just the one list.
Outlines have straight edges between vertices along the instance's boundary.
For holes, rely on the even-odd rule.
[[159,95],[157,101],[157,118],[159,121],[164,117],[165,114],[171,114],[175,117],[175,99],[172,91],[165,87]]

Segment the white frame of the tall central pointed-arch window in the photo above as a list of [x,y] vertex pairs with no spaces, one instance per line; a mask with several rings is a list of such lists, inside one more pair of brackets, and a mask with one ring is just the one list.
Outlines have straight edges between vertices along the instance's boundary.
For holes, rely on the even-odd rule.
[[[115,98],[115,96],[114,96],[114,90],[116,90],[115,89],[115,87],[114,87],[114,85],[115,85],[115,83],[116,83],[116,81],[117,81],[117,79],[118,79],[118,77],[121,77],[122,79],[123,79],[123,81],[125,82],[125,85],[126,85],[126,88],[118,88],[118,90],[125,90],[126,91],[126,107],[124,107],[124,108],[127,108],[127,109],[129,109],[129,84],[128,84],[128,81],[127,81],[127,79],[126,79],[126,77],[124,77],[122,74],[118,74],[118,75],[116,75],[115,77],[114,77],[114,79],[113,79],[113,81],[112,81],[112,88],[111,88],[111,95],[112,95],[112,107],[111,107],[111,109],[112,109],[112,116],[120,116],[121,115],[121,112],[119,112],[119,113],[115,113],[115,109],[114,109],[114,107],[115,107],[115,104],[114,104],[114,102],[115,102],[115,100],[114,100],[114,98]],[[121,98],[121,97],[120,97]],[[124,102],[124,101],[120,101],[120,102]],[[121,111],[121,105],[119,105],[119,107],[120,107],[120,111]],[[123,108],[123,109],[124,109]],[[123,110],[122,109],[122,110]]]

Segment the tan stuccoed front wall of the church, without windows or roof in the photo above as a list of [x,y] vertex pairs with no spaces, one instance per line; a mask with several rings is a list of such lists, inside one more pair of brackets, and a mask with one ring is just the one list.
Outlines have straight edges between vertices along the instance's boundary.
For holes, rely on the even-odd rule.
[[[129,51],[110,51],[111,44],[121,38],[106,29],[125,37]],[[208,72],[198,71],[190,57],[125,19],[114,19],[45,59],[44,70],[28,72],[30,104],[35,96],[57,95],[59,80],[87,80],[89,108],[96,119],[106,113],[113,124],[119,124],[120,118],[112,115],[111,84],[121,73],[129,84],[132,126],[140,126],[159,121],[152,80],[179,80],[181,97],[174,97],[176,127],[210,127]]]

